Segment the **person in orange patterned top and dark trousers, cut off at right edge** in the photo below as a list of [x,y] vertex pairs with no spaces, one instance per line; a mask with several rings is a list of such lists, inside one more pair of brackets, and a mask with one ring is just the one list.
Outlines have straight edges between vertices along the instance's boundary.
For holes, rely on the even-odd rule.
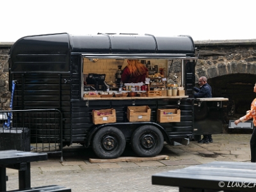
[[[256,93],[256,83],[253,88],[253,92]],[[250,120],[253,118],[253,133],[252,137],[250,140],[250,148],[251,148],[251,162],[256,163],[256,131],[255,131],[255,126],[256,126],[256,98],[252,101],[251,104],[251,110],[247,111],[248,114],[242,116],[241,118],[237,119],[234,123],[237,125],[240,122],[246,122],[247,120]]]

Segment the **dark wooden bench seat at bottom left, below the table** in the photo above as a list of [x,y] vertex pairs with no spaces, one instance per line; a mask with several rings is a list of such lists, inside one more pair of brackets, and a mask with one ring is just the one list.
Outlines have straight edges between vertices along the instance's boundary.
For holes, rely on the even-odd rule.
[[22,192],[53,192],[53,191],[61,191],[61,192],[71,192],[70,188],[66,188],[63,186],[57,186],[57,185],[52,185],[52,186],[41,186],[41,187],[36,187],[36,188],[27,188],[27,189],[17,189],[13,191],[8,191],[8,192],[15,192],[15,191],[22,191]]

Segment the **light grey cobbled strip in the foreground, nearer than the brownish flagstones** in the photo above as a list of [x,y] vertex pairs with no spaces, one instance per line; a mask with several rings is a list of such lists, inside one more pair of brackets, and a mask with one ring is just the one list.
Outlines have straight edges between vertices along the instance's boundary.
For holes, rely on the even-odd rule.
[[[184,166],[117,168],[107,170],[78,170],[66,172],[33,172],[31,187],[58,184],[79,191],[172,191],[179,192],[179,188],[172,186],[157,186],[151,184],[154,173],[164,172]],[[9,175],[8,190],[17,189],[17,173]]]

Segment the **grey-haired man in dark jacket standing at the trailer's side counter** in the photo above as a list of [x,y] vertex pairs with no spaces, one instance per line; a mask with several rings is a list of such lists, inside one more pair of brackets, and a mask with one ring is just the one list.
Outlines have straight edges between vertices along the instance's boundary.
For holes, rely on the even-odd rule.
[[[198,84],[200,88],[194,87],[195,98],[209,98],[212,97],[212,88],[207,83],[207,78],[205,76],[202,76],[198,79]],[[204,138],[202,140],[199,140],[198,143],[212,143],[212,135],[211,134],[204,134]]]

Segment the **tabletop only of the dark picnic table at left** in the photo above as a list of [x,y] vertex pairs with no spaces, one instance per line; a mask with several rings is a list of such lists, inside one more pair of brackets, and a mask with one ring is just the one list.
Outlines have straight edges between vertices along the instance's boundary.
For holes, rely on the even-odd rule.
[[20,150],[0,151],[0,166],[5,164],[29,163],[47,160],[47,153],[24,152]]

